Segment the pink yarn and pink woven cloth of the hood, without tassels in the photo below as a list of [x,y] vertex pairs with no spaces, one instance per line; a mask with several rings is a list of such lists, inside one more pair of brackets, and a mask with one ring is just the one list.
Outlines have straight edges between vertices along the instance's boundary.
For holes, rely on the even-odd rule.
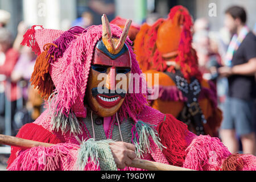
[[[111,30],[115,37],[119,37],[122,34],[122,30],[113,24],[111,24]],[[46,34],[47,39],[44,39]],[[62,34],[65,33],[57,30],[35,30],[35,38],[41,51],[43,51],[44,44],[52,43]],[[84,107],[86,82],[88,80],[94,47],[102,36],[102,26],[89,27],[82,34],[76,36],[77,38],[71,41],[63,56],[54,61],[49,69],[57,92],[56,99],[51,107],[57,112],[63,112],[65,115],[73,111],[76,117],[86,117],[86,108]],[[129,48],[132,62],[131,73],[141,74],[141,69],[139,69],[130,44],[130,40],[127,39],[126,45]],[[133,85],[135,89],[135,83]],[[146,104],[144,94],[128,93],[121,109],[118,111],[120,120],[122,121],[127,116],[133,117],[138,114],[144,104]]]

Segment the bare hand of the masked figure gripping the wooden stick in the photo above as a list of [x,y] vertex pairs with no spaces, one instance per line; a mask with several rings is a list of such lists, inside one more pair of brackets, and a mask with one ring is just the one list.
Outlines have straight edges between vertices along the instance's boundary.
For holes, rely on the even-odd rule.
[[112,151],[115,164],[120,169],[125,168],[131,164],[131,161],[136,158],[135,146],[126,142],[110,143],[110,150]]

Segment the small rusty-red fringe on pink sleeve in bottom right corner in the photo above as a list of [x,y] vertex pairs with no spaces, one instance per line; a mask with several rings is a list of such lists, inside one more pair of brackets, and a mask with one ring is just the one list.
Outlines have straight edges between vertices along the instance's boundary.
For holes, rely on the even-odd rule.
[[242,156],[242,154],[232,154],[226,158],[222,164],[221,171],[241,171],[243,168],[243,160],[240,156]]

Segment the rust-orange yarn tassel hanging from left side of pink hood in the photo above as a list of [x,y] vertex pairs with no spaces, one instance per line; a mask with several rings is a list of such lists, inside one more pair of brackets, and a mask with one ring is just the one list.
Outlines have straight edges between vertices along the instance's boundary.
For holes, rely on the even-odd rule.
[[39,90],[39,94],[44,99],[48,100],[49,96],[52,94],[55,86],[53,84],[52,78],[49,75],[49,59],[51,55],[48,54],[48,49],[55,44],[46,44],[44,45],[44,52],[42,52],[36,59],[34,72],[31,76],[31,84],[34,85],[34,88]]

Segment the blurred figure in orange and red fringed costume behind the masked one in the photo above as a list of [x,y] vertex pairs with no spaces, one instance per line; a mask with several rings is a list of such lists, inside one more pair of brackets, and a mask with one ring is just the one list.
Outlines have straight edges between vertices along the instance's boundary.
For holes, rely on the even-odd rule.
[[[175,6],[167,19],[152,26],[144,23],[134,41],[143,71],[159,74],[159,97],[149,100],[154,109],[170,113],[193,133],[217,136],[222,120],[215,85],[202,78],[195,50],[191,47],[192,19],[187,9]],[[148,77],[147,77],[148,78]],[[150,86],[154,79],[147,84]]]

